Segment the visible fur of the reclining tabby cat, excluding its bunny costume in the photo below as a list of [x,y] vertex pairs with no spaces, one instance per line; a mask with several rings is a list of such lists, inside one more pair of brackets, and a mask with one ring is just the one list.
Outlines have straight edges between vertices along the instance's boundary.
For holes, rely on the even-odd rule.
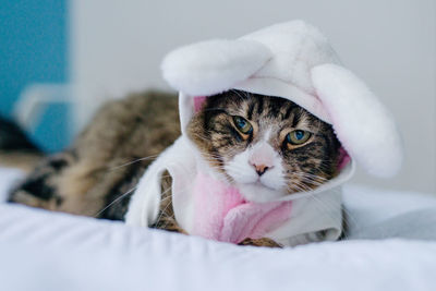
[[[75,143],[47,157],[12,191],[10,202],[123,220],[138,179],[180,135],[177,97],[149,92],[102,107]],[[257,202],[315,189],[337,175],[340,143],[331,125],[283,98],[229,90],[206,98],[187,135],[211,167]],[[249,160],[258,147],[274,165]],[[164,175],[159,219],[152,228],[184,233],[173,215],[171,177]],[[265,186],[253,192],[250,181]],[[274,194],[276,195],[276,194]],[[241,244],[277,246],[268,239]]]

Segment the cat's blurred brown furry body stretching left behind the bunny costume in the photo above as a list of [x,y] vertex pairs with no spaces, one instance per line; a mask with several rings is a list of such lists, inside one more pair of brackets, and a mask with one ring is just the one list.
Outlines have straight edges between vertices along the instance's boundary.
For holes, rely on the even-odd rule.
[[147,92],[109,101],[70,148],[46,158],[27,177],[11,201],[122,219],[129,193],[154,158],[179,135],[174,94]]

